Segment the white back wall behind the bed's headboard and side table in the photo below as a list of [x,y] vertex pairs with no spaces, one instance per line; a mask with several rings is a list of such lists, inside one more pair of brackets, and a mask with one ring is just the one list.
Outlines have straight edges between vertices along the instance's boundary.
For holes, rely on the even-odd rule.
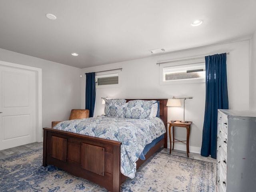
[[[227,55],[230,109],[246,110],[249,108],[249,40],[84,68],[82,69],[82,74],[86,72],[123,68],[121,72],[120,87],[100,88],[96,90],[97,104],[95,115],[103,113],[101,97],[106,96],[108,96],[108,98],[172,98],[173,96],[192,96],[193,99],[186,100],[185,118],[186,120],[193,121],[190,136],[190,151],[200,153],[202,127],[204,123],[205,83],[160,85],[160,67],[156,65],[156,63],[208,56],[224,52],[230,52],[230,55]],[[84,75],[82,78],[81,90],[82,108],[85,106]],[[183,119],[182,108],[168,108],[168,120],[171,119]],[[176,136],[177,138],[185,138],[186,131],[179,128],[176,131]],[[170,144],[168,144],[168,146],[170,146]],[[186,150],[186,146],[182,144],[177,144],[176,148]]]

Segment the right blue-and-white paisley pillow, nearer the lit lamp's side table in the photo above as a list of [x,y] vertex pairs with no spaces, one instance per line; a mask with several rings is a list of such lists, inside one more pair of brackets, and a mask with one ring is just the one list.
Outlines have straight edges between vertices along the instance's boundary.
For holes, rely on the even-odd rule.
[[144,119],[150,115],[152,104],[156,100],[132,100],[128,102],[125,117],[132,119]]

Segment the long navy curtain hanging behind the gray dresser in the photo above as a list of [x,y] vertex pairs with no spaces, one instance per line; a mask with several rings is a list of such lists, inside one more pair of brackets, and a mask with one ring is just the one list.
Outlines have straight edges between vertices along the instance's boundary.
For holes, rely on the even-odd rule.
[[226,53],[205,57],[206,99],[201,155],[216,159],[218,109],[228,109]]

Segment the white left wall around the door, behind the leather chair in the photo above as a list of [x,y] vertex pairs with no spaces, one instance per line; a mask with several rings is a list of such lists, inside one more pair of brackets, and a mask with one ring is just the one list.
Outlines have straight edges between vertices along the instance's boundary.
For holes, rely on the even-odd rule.
[[0,60],[42,69],[42,127],[67,120],[81,106],[80,68],[0,49]]

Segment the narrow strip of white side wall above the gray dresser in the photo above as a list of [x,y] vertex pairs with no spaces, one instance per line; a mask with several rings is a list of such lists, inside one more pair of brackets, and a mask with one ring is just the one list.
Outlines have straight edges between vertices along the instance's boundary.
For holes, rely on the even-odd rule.
[[250,41],[250,109],[256,110],[256,31]]

